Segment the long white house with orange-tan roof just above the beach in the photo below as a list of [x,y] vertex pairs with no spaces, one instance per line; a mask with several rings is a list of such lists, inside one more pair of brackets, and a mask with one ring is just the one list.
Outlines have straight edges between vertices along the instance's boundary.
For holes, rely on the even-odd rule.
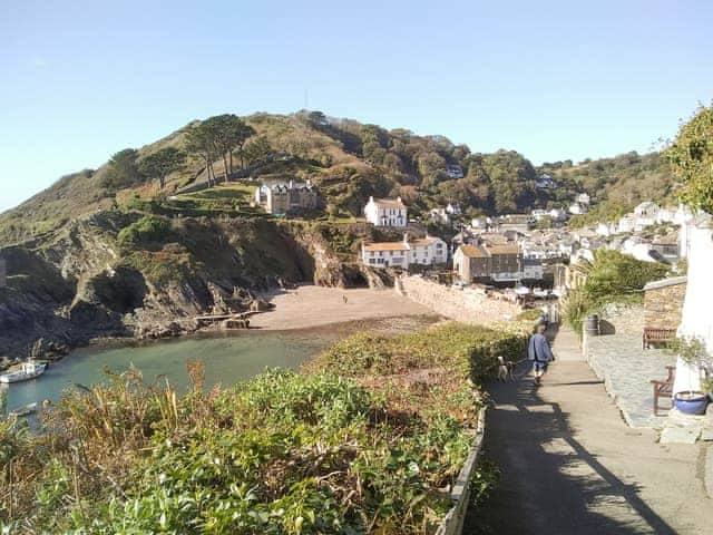
[[427,235],[421,240],[409,240],[404,234],[401,242],[362,243],[361,261],[372,268],[401,268],[411,265],[436,265],[448,261],[448,246],[440,237]]

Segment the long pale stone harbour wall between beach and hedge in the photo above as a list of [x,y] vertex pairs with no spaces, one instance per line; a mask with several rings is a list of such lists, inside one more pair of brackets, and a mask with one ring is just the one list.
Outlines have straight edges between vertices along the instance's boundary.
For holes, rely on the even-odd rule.
[[486,325],[509,320],[520,312],[516,303],[490,299],[472,289],[445,286],[420,276],[401,276],[395,289],[433,312],[462,323]]

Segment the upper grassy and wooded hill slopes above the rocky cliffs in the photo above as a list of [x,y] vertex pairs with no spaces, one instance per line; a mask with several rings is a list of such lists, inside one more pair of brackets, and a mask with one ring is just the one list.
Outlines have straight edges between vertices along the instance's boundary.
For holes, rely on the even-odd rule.
[[[471,153],[443,136],[417,136],[402,128],[388,130],[352,119],[330,118],[319,111],[261,113],[244,120],[255,130],[253,138],[266,142],[272,155],[280,155],[271,156],[270,162],[254,162],[245,174],[254,179],[311,179],[325,196],[325,212],[334,220],[360,215],[371,195],[400,195],[418,217],[448,202],[463,205],[467,215],[561,206],[582,191],[606,210],[613,205],[628,208],[644,198],[671,198],[674,188],[667,163],[657,153],[628,153],[577,165],[557,162],[536,168],[516,152]],[[197,124],[139,148],[138,158],[164,147],[185,148],[186,133]],[[176,192],[204,181],[204,167],[201,157],[189,155],[184,168],[167,177],[164,189],[158,181],[145,177],[126,187],[107,185],[109,164],[67,175],[17,208],[0,214],[0,245],[41,236],[74,217],[100,210],[128,207],[166,215],[184,210],[188,215],[260,216],[258,211],[250,210],[245,189],[250,186],[167,202]],[[214,167],[222,176],[219,159]],[[554,176],[559,187],[537,189],[535,178],[541,173]]]

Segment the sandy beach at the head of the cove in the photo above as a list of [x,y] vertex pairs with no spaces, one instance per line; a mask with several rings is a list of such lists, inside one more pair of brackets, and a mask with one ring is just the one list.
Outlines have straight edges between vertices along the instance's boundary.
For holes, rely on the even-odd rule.
[[274,303],[275,309],[253,315],[251,328],[309,329],[350,321],[436,315],[426,307],[400,296],[393,289],[342,290],[304,285],[263,298]]

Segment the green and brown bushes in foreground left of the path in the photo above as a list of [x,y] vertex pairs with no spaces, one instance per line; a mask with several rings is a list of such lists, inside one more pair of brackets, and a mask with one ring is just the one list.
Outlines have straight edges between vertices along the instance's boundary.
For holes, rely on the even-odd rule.
[[[431,534],[468,454],[477,381],[521,333],[356,335],[309,370],[178,396],[129,370],[0,425],[0,518],[49,533]],[[352,359],[352,357],[354,357]],[[473,388],[476,385],[476,388]]]

